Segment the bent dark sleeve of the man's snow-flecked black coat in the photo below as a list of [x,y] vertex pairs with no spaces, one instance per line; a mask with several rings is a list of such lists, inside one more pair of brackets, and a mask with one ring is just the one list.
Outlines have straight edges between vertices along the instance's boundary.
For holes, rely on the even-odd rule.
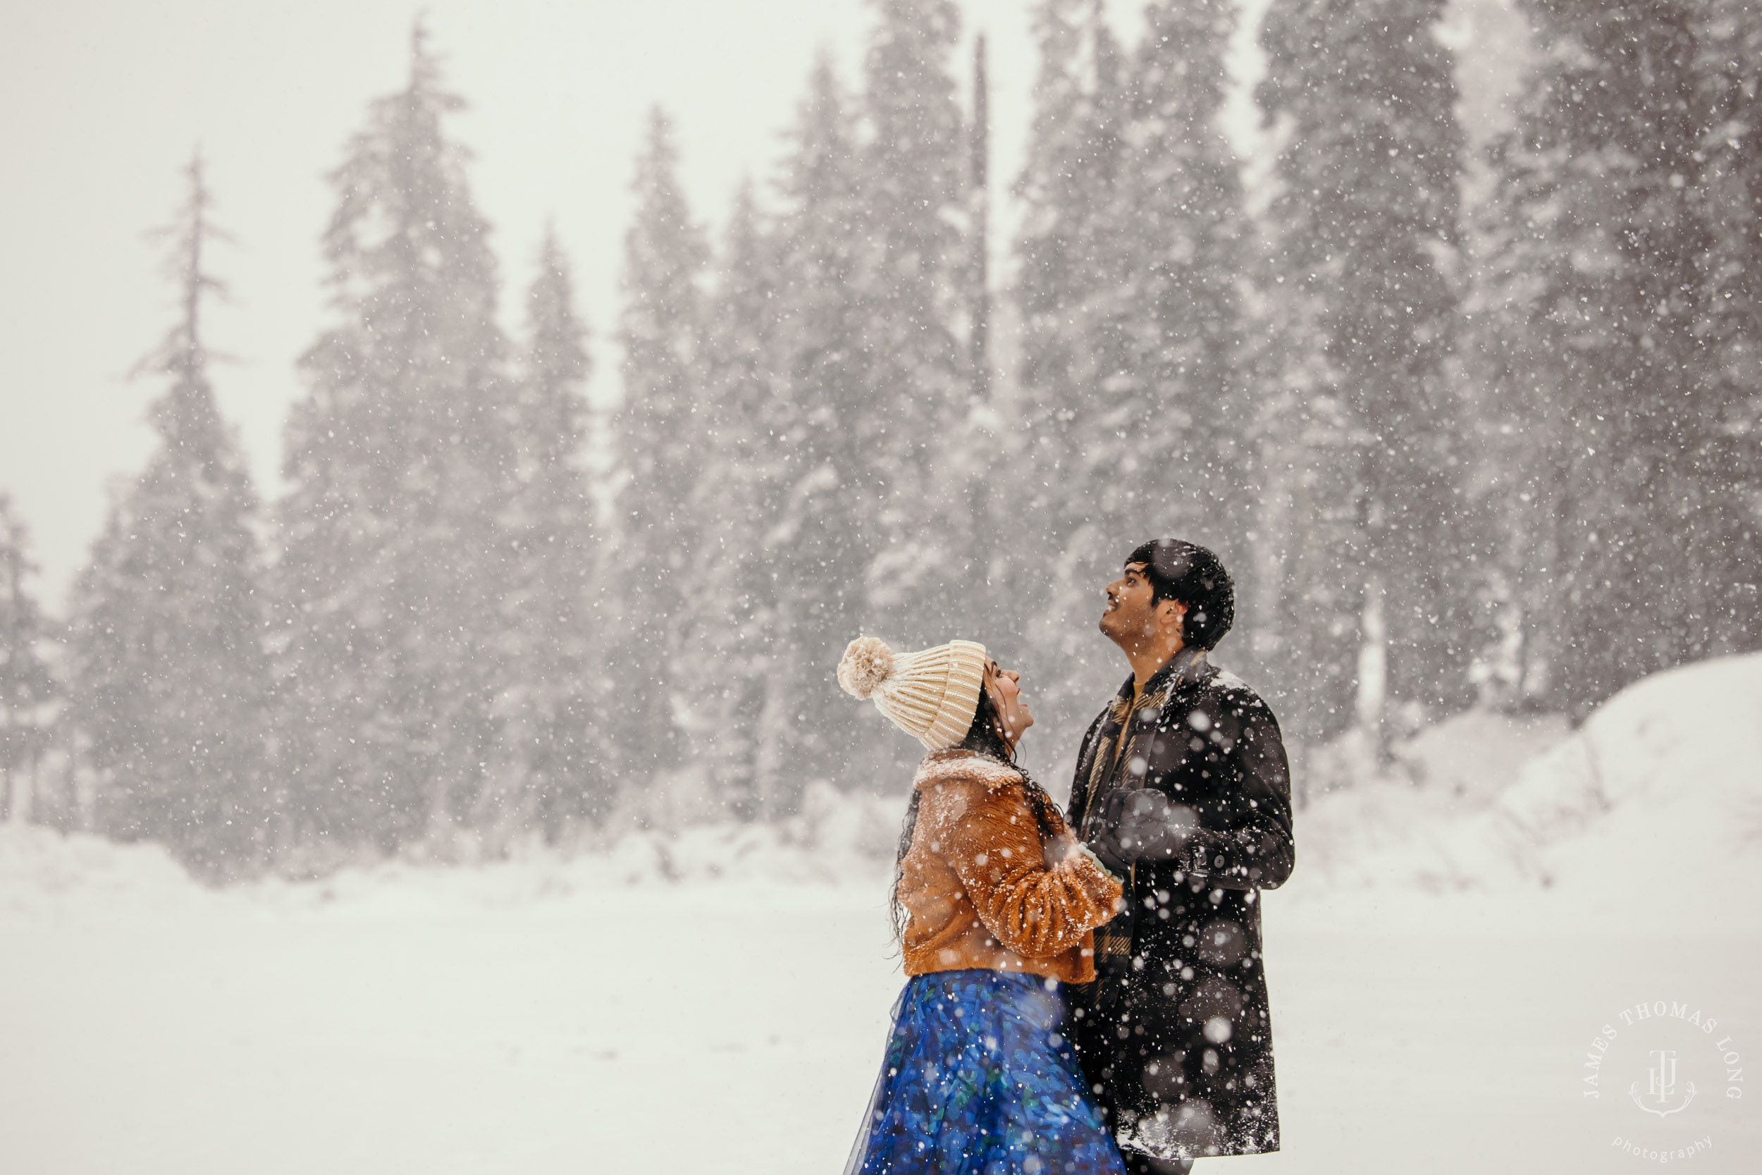
[[1202,823],[1177,860],[1218,890],[1277,890],[1297,863],[1284,740],[1258,698],[1221,710],[1212,735],[1230,780],[1228,807],[1223,819]]

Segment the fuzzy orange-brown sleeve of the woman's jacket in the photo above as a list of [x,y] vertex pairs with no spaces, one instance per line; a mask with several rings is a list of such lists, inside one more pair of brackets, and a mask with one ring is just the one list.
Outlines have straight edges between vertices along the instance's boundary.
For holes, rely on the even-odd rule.
[[946,860],[980,921],[1025,958],[1078,946],[1114,916],[1121,883],[1070,837],[1043,846],[1020,784],[988,787],[953,826]]

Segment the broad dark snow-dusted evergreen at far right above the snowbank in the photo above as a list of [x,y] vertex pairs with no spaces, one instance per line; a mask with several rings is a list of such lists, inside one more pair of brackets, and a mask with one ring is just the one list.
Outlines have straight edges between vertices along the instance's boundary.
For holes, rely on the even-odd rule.
[[[1498,146],[1484,282],[1514,444],[1524,689],[1584,713],[1637,676],[1758,639],[1750,395],[1721,331],[1702,4],[1524,5],[1542,65]],[[1741,93],[1741,85],[1739,85]],[[1741,201],[1739,201],[1741,203]],[[1743,248],[1743,243],[1737,245]],[[1723,261],[1723,257],[1721,257]],[[1739,349],[1743,344],[1737,344]],[[1753,449],[1751,449],[1753,451]],[[1632,618],[1646,617],[1646,632]]]

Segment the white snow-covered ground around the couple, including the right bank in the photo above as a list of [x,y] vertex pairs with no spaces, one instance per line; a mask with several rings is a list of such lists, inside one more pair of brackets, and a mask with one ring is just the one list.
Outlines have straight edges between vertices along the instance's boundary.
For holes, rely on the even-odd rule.
[[[1404,754],[1424,782],[1314,802],[1265,898],[1284,1152],[1200,1170],[1656,1164],[1614,1138],[1758,1170],[1762,1092],[1702,1053],[1762,1057],[1762,657]],[[781,833],[222,893],[0,830],[0,1171],[839,1170],[900,985],[895,817],[818,794]],[[1655,1001],[1718,1020],[1670,1117],[1628,1099]]]

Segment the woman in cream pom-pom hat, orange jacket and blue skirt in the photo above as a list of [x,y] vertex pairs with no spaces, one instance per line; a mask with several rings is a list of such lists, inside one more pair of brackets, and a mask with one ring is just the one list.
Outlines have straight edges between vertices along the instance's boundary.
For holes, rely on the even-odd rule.
[[1094,979],[1121,883],[1015,765],[1034,719],[983,645],[844,650],[839,684],[929,750],[893,874],[906,990],[846,1175],[1121,1175],[1059,1034],[1061,983]]

